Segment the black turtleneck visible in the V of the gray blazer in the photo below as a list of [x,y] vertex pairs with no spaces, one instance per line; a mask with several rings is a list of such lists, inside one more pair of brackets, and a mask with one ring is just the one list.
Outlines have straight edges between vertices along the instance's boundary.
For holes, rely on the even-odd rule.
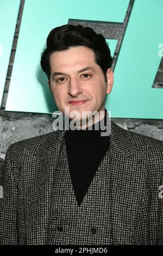
[[[100,120],[104,121],[106,126],[105,117]],[[69,122],[71,119],[69,119]],[[83,130],[66,130],[65,143],[67,150],[68,166],[70,169],[71,181],[76,196],[78,206],[88,190],[93,176],[101,164],[106,151],[109,149],[109,136],[101,136],[101,130],[95,130],[95,124]]]

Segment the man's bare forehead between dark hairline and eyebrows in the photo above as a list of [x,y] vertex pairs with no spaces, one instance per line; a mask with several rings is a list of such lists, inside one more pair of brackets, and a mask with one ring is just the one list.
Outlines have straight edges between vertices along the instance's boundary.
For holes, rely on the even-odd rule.
[[51,69],[71,68],[74,66],[96,67],[93,50],[85,46],[71,47],[68,50],[53,52],[50,56]]

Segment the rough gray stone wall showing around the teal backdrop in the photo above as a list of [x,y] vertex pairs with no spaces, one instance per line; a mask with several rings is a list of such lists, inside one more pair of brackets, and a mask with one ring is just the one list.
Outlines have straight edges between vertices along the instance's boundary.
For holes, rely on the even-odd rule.
[[[133,7],[133,3],[134,0],[130,0],[130,4],[123,24],[85,22],[74,20],[69,20],[68,22],[75,25],[81,24],[83,26],[90,26],[95,29],[97,33],[103,34],[105,38],[118,40],[116,52],[114,55],[114,62],[112,65],[113,69],[115,67],[118,53],[121,48],[123,36],[129,20],[131,9]],[[10,78],[12,73],[12,66],[14,63],[18,34],[21,25],[23,6],[24,0],[21,1],[20,10],[17,17],[15,35],[12,44],[11,56],[0,109],[0,181],[4,169],[5,153],[11,143],[53,131],[52,122],[54,119],[50,114],[7,112],[4,110],[10,86]],[[156,74],[153,87],[163,89],[163,60],[161,61],[158,72]],[[146,135],[163,141],[163,120],[112,118],[112,121],[114,121],[117,125],[123,127],[126,130],[131,130],[142,135]]]

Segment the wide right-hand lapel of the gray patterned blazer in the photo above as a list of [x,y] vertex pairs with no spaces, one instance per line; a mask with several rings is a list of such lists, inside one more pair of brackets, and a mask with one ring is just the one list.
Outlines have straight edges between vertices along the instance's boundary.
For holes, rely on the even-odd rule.
[[133,132],[111,124],[109,154],[111,244],[129,244],[141,205],[148,148]]

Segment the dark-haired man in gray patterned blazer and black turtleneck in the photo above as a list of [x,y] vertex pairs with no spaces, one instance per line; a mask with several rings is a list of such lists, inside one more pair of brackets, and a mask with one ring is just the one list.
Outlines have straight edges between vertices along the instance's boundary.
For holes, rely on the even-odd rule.
[[78,113],[76,129],[9,146],[1,244],[162,245],[163,143],[112,121],[111,133],[101,136],[102,121],[109,125],[111,64],[105,39],[93,29],[64,25],[49,33],[41,66],[70,126]]

